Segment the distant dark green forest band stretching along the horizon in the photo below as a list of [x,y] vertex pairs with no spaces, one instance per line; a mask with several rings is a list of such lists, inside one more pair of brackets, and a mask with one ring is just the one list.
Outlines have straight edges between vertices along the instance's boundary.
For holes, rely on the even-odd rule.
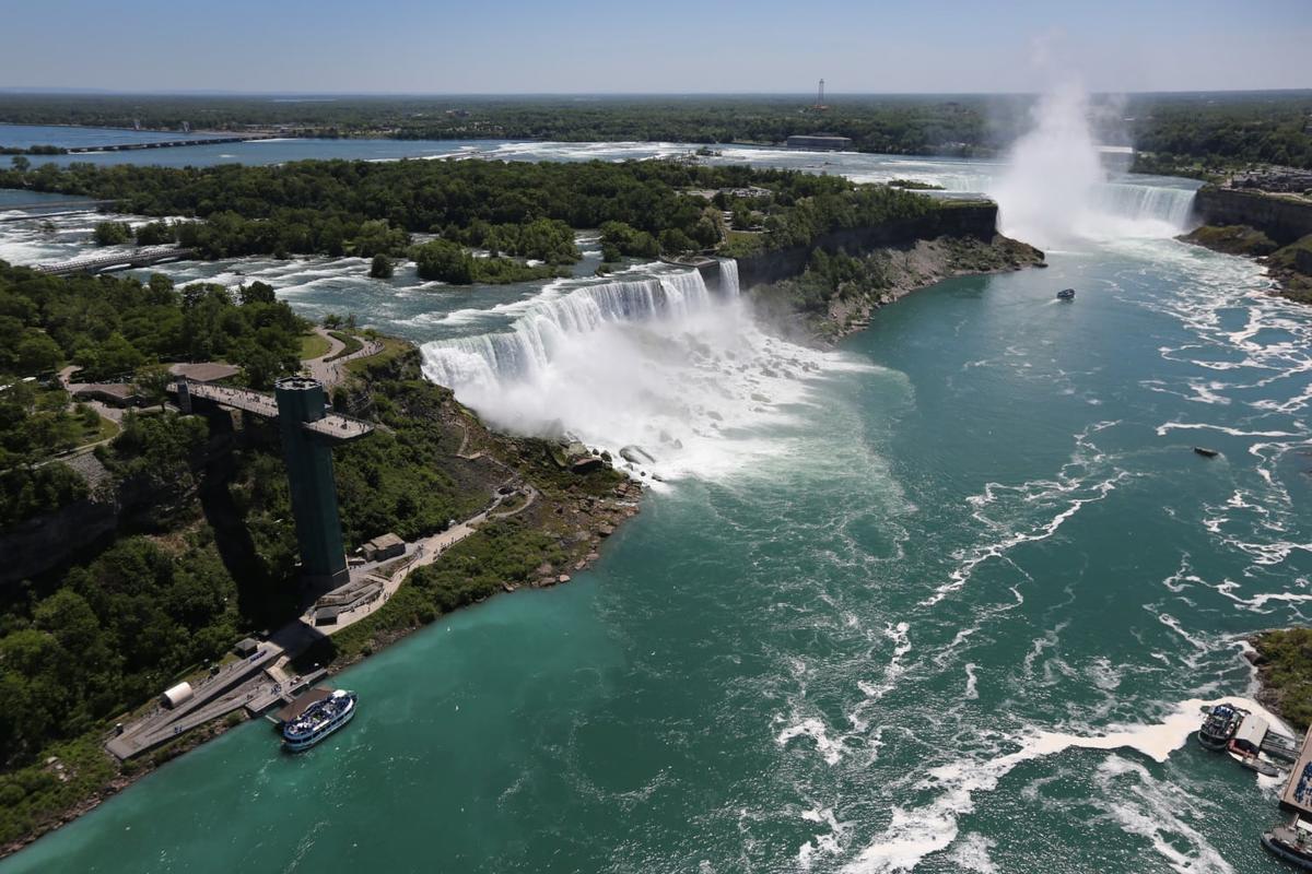
[[[4,94],[0,118],[20,124],[180,130],[283,128],[314,136],[401,139],[781,143],[832,132],[867,152],[992,155],[1027,126],[1029,94],[274,97]],[[1312,92],[1132,94],[1093,98],[1110,144],[1211,164],[1312,166]],[[0,147],[4,145],[0,128]]]

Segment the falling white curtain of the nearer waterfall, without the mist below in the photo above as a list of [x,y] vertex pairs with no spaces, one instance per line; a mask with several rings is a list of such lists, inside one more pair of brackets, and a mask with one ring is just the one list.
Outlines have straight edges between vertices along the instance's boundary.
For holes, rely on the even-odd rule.
[[[726,263],[732,266],[726,270]],[[732,295],[737,296],[737,263],[722,261],[720,270],[722,276],[732,278]],[[710,303],[697,270],[586,286],[530,308],[508,332],[428,343],[424,371],[433,381],[457,390],[492,389],[501,380],[533,379],[563,345],[605,324],[687,316]]]

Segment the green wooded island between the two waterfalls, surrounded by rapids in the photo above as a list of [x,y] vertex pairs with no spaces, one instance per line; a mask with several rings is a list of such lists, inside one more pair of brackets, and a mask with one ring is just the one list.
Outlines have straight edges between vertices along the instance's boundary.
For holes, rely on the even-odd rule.
[[[209,258],[409,257],[421,276],[458,284],[555,275],[579,258],[573,229],[610,228],[607,261],[728,244],[728,252],[741,254],[743,245],[791,246],[836,228],[935,208],[924,195],[842,177],[674,161],[72,164],[0,170],[0,187],[89,195],[117,202],[122,212],[199,219],[136,228],[106,221],[96,228],[97,242],[106,245],[176,240]],[[441,238],[412,245],[416,233]],[[472,257],[470,248],[487,257]]]

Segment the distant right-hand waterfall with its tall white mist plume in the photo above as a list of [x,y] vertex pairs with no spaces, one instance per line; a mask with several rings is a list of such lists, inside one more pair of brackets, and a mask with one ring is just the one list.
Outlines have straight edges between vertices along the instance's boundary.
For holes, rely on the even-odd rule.
[[1012,147],[1006,172],[989,189],[1004,233],[1046,248],[1172,237],[1187,228],[1194,202],[1187,185],[1110,177],[1082,92],[1047,94],[1031,115],[1034,127]]

